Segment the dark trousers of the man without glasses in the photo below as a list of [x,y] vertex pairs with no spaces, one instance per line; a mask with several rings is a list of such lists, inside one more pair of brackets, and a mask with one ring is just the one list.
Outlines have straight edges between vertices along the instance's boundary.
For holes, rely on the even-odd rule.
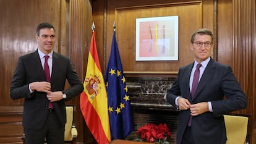
[[48,144],[64,143],[64,127],[59,123],[55,112],[49,112],[45,125],[39,129],[25,129],[26,144],[43,144],[45,140]]

